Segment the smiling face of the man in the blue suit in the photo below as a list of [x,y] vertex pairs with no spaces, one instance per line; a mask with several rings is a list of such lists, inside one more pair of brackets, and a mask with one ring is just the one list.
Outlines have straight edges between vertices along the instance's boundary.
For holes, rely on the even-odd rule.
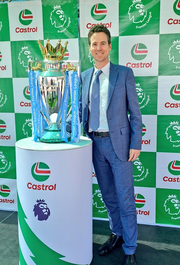
[[93,33],[91,36],[91,45],[89,51],[95,59],[95,63],[107,61],[109,58],[109,51],[111,50],[111,43],[108,44],[108,37],[104,32]]

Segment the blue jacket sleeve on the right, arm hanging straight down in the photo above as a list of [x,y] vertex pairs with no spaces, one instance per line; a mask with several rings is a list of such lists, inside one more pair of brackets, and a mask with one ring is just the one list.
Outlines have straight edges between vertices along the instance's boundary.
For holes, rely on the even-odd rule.
[[130,114],[131,144],[130,149],[141,150],[142,145],[142,116],[140,112],[136,83],[130,68],[126,78],[127,105]]

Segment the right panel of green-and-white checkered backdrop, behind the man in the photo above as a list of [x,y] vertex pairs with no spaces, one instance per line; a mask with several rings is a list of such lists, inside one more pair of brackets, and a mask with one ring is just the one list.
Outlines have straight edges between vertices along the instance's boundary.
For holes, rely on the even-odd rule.
[[[111,33],[110,61],[135,75],[143,119],[142,152],[133,163],[138,222],[179,226],[180,0],[80,1],[82,71],[94,64],[87,35],[97,24]],[[95,171],[93,216],[108,217]]]

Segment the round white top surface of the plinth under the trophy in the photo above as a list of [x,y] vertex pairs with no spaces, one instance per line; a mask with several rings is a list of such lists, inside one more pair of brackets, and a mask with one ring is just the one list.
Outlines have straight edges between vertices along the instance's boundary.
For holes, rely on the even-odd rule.
[[80,136],[80,140],[78,143],[43,143],[39,140],[36,142],[33,140],[33,137],[28,137],[25,139],[21,139],[16,142],[15,146],[21,149],[34,150],[34,151],[61,151],[61,150],[69,150],[82,148],[92,144],[92,140]]

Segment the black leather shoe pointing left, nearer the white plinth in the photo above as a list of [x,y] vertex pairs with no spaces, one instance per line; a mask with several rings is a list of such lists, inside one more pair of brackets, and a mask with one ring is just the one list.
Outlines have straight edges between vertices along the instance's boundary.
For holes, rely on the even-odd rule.
[[118,245],[123,244],[124,240],[122,236],[116,236],[111,234],[108,240],[100,247],[98,253],[100,255],[106,255],[112,252]]

